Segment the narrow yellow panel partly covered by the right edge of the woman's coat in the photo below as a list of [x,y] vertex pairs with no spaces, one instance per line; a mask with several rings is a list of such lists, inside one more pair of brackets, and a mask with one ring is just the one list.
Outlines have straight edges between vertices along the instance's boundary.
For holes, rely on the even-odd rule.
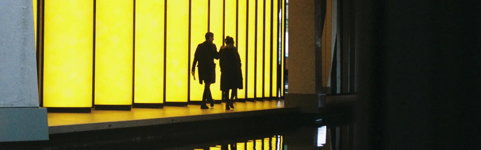
[[[235,0],[231,0],[231,1],[234,1]],[[239,34],[237,35],[238,36],[238,39],[236,39],[236,42],[237,42],[237,49],[239,51],[239,56],[241,56],[241,63],[242,63],[242,66],[241,66],[241,70],[242,70],[242,85],[243,85],[243,89],[239,90],[237,92],[237,98],[245,98],[245,88],[246,88],[246,85],[245,85],[245,79],[246,79],[246,74],[245,74],[245,66],[246,66],[246,59],[245,59],[245,55],[246,55],[246,36],[245,36],[245,32],[246,32],[246,11],[247,11],[247,3],[246,1],[239,1],[239,15],[238,15],[238,32]],[[234,16],[235,17],[235,16]]]

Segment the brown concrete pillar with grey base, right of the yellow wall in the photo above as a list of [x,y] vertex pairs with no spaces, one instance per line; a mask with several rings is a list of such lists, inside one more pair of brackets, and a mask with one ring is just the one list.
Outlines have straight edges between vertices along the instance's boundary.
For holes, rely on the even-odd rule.
[[317,113],[323,104],[315,21],[315,0],[289,1],[289,93],[285,106],[299,107],[304,113]]

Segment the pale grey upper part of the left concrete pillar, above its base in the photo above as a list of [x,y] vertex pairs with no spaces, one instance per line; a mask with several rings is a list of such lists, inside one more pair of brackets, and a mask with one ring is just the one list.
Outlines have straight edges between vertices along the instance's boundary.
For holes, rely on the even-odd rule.
[[0,0],[0,107],[38,107],[32,0]]

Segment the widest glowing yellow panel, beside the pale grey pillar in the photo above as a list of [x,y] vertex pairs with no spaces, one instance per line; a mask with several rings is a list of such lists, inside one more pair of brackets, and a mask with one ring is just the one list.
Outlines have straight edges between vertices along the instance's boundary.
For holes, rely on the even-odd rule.
[[45,0],[44,107],[92,107],[92,0]]

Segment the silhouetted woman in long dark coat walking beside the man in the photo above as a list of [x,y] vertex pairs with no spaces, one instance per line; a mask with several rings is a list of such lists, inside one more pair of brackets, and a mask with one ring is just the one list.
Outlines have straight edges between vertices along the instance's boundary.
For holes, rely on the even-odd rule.
[[[234,39],[227,36],[224,40],[226,46],[221,46],[219,50],[220,65],[220,90],[222,90],[222,98],[226,101],[226,110],[234,108],[232,100],[237,95],[237,89],[242,89],[242,70],[241,57],[237,48],[234,46]],[[232,94],[229,96],[229,90]]]

